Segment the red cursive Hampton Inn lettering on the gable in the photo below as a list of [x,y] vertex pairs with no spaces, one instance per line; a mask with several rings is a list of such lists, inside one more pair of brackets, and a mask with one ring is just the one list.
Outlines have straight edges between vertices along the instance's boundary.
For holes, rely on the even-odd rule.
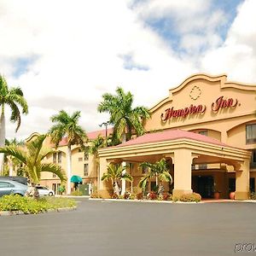
[[[212,112],[218,113],[218,111],[222,108],[236,108],[238,104],[237,99],[233,98],[224,98],[224,96],[218,97],[218,99],[215,102],[212,102],[211,109]],[[190,114],[203,114],[207,110],[206,105],[198,105],[195,106],[191,104],[189,107],[186,108],[180,108],[180,109],[174,109],[172,108],[167,108],[165,113],[161,113],[161,120],[165,122],[168,119],[172,118],[179,118],[183,117],[186,118]]]

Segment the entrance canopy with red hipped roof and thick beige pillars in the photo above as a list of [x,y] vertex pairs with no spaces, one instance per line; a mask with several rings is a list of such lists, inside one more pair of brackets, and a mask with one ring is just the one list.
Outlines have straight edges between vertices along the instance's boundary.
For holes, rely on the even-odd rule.
[[[115,147],[99,150],[100,177],[110,162],[148,161],[171,158],[174,164],[174,196],[192,192],[191,164],[226,163],[236,171],[236,199],[247,199],[249,195],[250,153],[241,148],[230,147],[212,137],[190,131],[167,130],[148,133]],[[106,195],[104,183],[99,191]]]

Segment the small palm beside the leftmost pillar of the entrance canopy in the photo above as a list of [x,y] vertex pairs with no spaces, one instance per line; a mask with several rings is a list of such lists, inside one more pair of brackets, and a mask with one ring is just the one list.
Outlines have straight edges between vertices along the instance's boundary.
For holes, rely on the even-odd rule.
[[118,195],[119,195],[118,181],[125,180],[125,181],[132,182],[133,180],[131,175],[128,173],[124,173],[124,171],[125,171],[125,166],[109,164],[107,172],[104,172],[102,175],[102,181],[104,180],[108,181],[109,179],[111,180],[113,191],[115,191],[115,193]]

